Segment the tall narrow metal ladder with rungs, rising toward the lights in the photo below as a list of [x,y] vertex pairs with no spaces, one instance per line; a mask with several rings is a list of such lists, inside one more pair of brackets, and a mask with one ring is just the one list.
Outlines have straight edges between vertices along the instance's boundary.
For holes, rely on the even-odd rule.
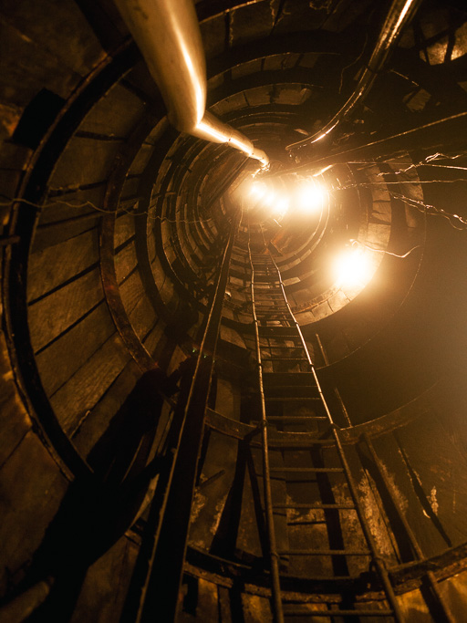
[[[248,256],[252,275],[251,303],[261,410],[258,430],[261,432],[262,473],[259,475],[263,478],[263,504],[275,621],[282,623],[285,617],[307,615],[327,617],[329,620],[349,616],[386,617],[402,621],[388,570],[369,530],[359,501],[358,489],[339,438],[338,427],[327,407],[305,339],[287,301],[280,271],[266,249],[264,253],[252,252],[250,242]],[[280,429],[282,432],[279,432]],[[323,458],[324,452],[328,453],[329,449],[335,454],[334,461],[331,461],[332,466]],[[285,464],[275,466],[277,460],[271,460],[275,452],[280,453],[279,456]],[[272,462],[275,465],[271,466]],[[347,485],[351,502],[335,499],[330,480],[339,477]],[[297,479],[302,487],[304,483],[306,487],[314,487],[313,500],[296,504],[290,501],[292,496],[286,496],[285,500],[277,501],[275,487],[272,486],[275,478],[285,481],[285,487],[293,487]],[[277,514],[311,511],[325,515],[328,546],[305,550],[289,545],[287,549],[279,549],[276,538]],[[358,549],[347,547],[338,529],[335,536],[329,533],[330,520],[333,519],[338,528],[341,520],[342,524],[346,523],[350,513],[357,514],[361,529],[362,547]],[[310,538],[308,540],[312,541]],[[355,560],[355,556],[364,556],[364,560],[368,561],[367,571],[372,567],[376,572],[389,608],[372,609],[351,604],[345,609],[328,609],[325,605],[310,610],[304,605],[284,604],[280,587],[280,566],[297,556],[321,556],[327,566],[332,566],[334,575],[329,579],[335,580],[349,579],[349,561]]]

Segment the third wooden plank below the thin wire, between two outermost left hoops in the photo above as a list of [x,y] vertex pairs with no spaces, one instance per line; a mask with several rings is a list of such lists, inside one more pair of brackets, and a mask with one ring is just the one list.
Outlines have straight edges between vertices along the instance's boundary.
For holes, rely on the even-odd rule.
[[54,394],[64,385],[113,333],[115,325],[109,308],[101,303],[76,327],[36,355],[37,368],[47,395]]

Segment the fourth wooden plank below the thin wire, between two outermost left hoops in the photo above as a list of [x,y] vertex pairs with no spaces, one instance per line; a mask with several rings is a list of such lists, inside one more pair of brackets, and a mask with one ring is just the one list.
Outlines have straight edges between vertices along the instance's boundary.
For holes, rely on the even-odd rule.
[[120,337],[114,334],[86,364],[58,389],[50,402],[64,430],[72,435],[130,359]]

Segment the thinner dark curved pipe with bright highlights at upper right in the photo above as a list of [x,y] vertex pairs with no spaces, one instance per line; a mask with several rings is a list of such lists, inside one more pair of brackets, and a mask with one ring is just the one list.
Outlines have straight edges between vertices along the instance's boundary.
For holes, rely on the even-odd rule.
[[286,150],[293,151],[300,149],[301,147],[317,142],[317,140],[324,139],[329,132],[336,128],[340,121],[348,117],[356,106],[368,95],[368,91],[373,86],[378,72],[381,67],[384,66],[389,57],[389,52],[400,36],[402,28],[410,21],[410,18],[414,15],[419,4],[420,0],[394,0],[392,2],[389,7],[388,16],[379,33],[378,43],[368,61],[368,66],[365,67],[365,70],[358,80],[357,88],[355,88],[347,102],[322,130],[319,130],[319,132],[304,140],[298,140],[295,143],[287,145],[285,148]]

